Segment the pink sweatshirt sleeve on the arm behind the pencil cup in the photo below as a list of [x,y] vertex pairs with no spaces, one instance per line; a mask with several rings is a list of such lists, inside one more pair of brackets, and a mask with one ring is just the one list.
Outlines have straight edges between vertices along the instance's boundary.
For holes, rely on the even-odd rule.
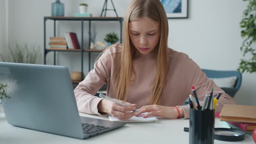
[[[215,111],[221,111],[224,104],[235,104],[235,101],[232,97],[227,95],[220,87],[218,87],[213,80],[208,79],[206,74],[200,69],[197,65],[197,69],[194,74],[194,79],[191,87],[194,86],[197,92],[197,97],[200,100],[200,105],[203,106],[204,97],[207,94],[210,94],[210,91],[213,88],[213,96],[216,96],[219,92],[222,92],[218,103],[215,107]],[[190,94],[193,94],[193,91],[190,87]],[[193,94],[194,95],[194,94]],[[184,110],[184,119],[189,118],[189,105],[179,106]]]

